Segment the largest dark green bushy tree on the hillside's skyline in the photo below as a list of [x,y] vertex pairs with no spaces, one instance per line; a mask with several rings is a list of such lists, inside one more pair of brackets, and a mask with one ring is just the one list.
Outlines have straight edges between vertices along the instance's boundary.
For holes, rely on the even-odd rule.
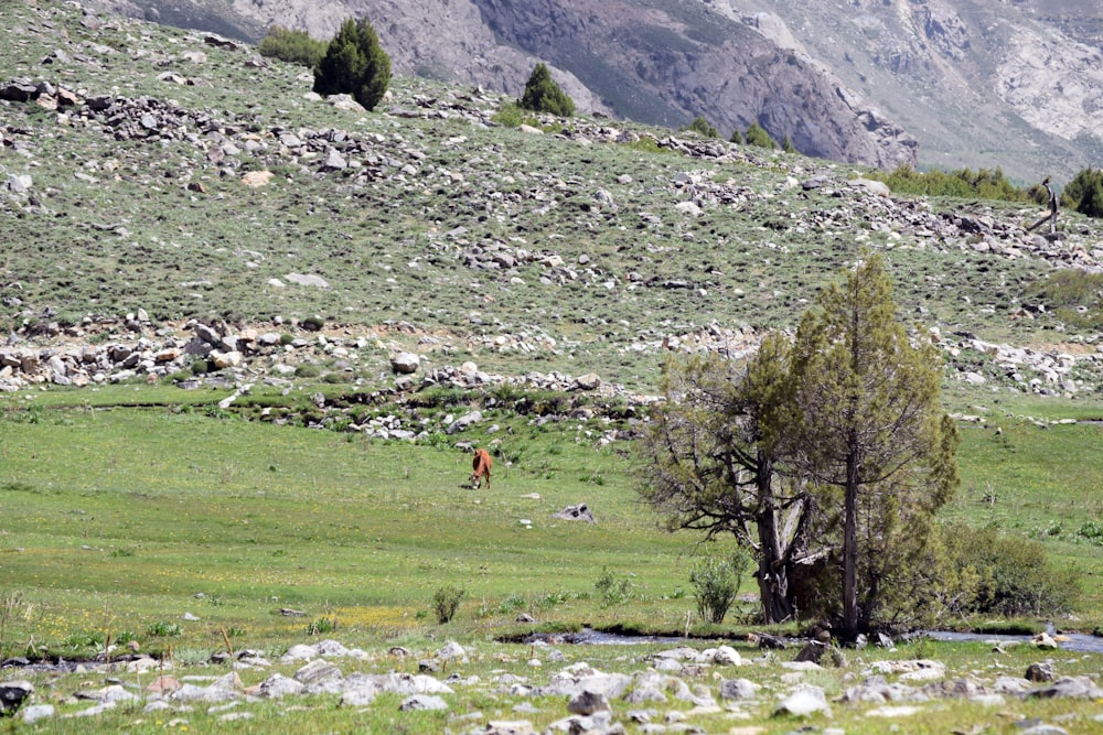
[[352,95],[366,109],[375,109],[390,84],[390,57],[366,18],[346,20],[314,66],[314,91]]

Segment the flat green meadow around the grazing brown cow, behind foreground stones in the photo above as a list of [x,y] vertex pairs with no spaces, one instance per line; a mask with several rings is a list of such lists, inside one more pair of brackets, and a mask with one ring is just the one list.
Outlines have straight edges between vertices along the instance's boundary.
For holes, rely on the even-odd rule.
[[[31,637],[61,653],[120,633],[154,647],[214,646],[223,630],[246,646],[289,645],[322,617],[366,639],[424,633],[446,585],[467,592],[451,625],[488,636],[514,627],[520,610],[564,628],[672,633],[694,609],[697,539],[658,529],[635,495],[631,444],[599,447],[592,423],[536,426],[492,412],[494,434],[415,445],[192,403],[29,410],[18,396],[2,400],[2,564],[7,590],[33,610],[10,624],[9,655]],[[1035,538],[1056,563],[1080,568],[1081,619],[1054,623],[1089,633],[1103,621],[1103,457],[1091,451],[1101,432],[964,428],[962,487],[945,514]],[[495,442],[492,490],[464,487],[461,440]],[[552,518],[578,502],[597,523]],[[629,581],[625,599],[596,588],[602,571]],[[201,619],[181,638],[146,635],[185,613]]]

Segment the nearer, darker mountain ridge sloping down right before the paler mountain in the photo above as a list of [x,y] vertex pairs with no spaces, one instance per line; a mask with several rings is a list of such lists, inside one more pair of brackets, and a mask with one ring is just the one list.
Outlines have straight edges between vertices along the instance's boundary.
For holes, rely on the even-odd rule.
[[[115,10],[165,21],[162,10]],[[684,2],[638,0],[354,0],[235,2],[210,8],[224,25],[256,35],[269,23],[329,37],[366,14],[400,74],[478,84],[520,95],[545,61],[580,109],[677,128],[704,115],[725,136],[754,121],[799,150],[837,161],[893,166],[915,161],[915,141],[821,65],[779,47],[746,24]],[[245,20],[243,20],[245,19]],[[193,18],[192,24],[201,25]]]

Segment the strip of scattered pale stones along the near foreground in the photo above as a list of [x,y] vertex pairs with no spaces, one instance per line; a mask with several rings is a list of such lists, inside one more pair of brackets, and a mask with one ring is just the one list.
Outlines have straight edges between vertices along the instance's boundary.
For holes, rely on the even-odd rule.
[[[0,693],[4,695],[3,709],[18,711],[15,716],[24,724],[96,717],[128,706],[140,715],[167,718],[170,727],[186,727],[193,717],[216,723],[248,721],[264,702],[293,706],[308,695],[335,700],[339,707],[364,711],[379,707],[378,696],[390,693],[399,696],[398,711],[445,711],[452,732],[470,735],[612,735],[624,733],[627,726],[646,733],[706,732],[695,723],[715,722],[718,715],[726,721],[770,715],[818,718],[831,716],[833,706],[861,710],[864,717],[876,722],[906,724],[946,700],[1005,707],[1016,700],[1052,699],[1068,700],[1074,707],[1078,701],[1103,698],[1103,689],[1093,679],[1058,677],[1051,661],[1031,664],[1022,677],[1016,677],[1009,675],[998,661],[963,674],[930,659],[852,666],[839,655],[837,666],[853,668],[854,675],[845,691],[828,701],[824,689],[808,681],[822,670],[820,664],[802,661],[800,656],[796,661],[779,661],[772,652],[745,658],[726,645],[683,645],[658,650],[630,659],[622,671],[613,672],[598,670],[581,659],[568,662],[574,653],[568,656],[561,648],[542,644],[533,646],[524,661],[528,674],[500,669],[483,679],[463,673],[473,660],[488,656],[478,647],[464,648],[454,641],[415,656],[403,647],[370,652],[323,640],[292,646],[278,659],[268,658],[264,651],[223,651],[208,666],[228,672],[206,675],[127,653],[111,662],[78,667],[76,673],[84,677],[106,678],[108,683],[101,688],[84,684],[63,693],[56,691],[58,682],[53,682],[55,691],[50,700],[57,706],[42,702],[34,683],[25,679],[0,683]],[[493,656],[499,666],[522,662],[512,651],[497,650]],[[419,673],[404,671],[406,660],[417,660]],[[12,663],[19,662],[7,662]],[[545,663],[558,664],[558,669],[544,674]],[[445,679],[433,675],[443,667],[452,669],[452,673]],[[345,673],[350,668],[354,671]],[[142,674],[152,681],[147,679],[149,683],[142,684]],[[515,718],[489,717],[479,711],[453,712],[452,702],[473,694],[517,702],[511,712]],[[560,702],[561,710],[558,715],[552,713],[557,720],[538,729],[525,715],[540,712],[549,699]],[[1048,723],[1026,722],[1020,732],[1060,735],[1067,731]]]

